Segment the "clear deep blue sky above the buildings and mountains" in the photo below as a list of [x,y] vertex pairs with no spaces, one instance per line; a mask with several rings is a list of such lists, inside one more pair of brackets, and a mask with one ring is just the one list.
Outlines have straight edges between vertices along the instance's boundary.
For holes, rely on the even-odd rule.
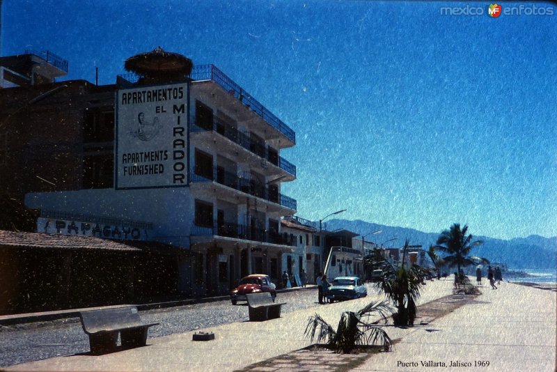
[[556,236],[557,9],[444,6],[466,3],[4,0],[2,54],[48,49],[100,84],[159,45],[214,63],[295,130],[301,217]]

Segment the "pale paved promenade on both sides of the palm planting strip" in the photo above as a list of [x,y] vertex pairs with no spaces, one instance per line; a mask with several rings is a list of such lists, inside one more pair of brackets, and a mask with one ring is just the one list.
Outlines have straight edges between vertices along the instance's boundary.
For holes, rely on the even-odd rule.
[[[427,282],[420,302],[450,294],[452,281]],[[370,357],[353,371],[554,371],[556,360],[556,293],[503,283],[498,290],[481,288],[471,304],[406,330],[388,327],[400,341],[393,352]],[[322,305],[325,320],[336,326],[340,313],[361,309],[375,296]],[[247,312],[247,307],[242,307]],[[193,332],[148,339],[148,346],[107,355],[71,355],[11,366],[7,371],[235,371],[256,362],[310,345],[304,339],[308,316],[315,309],[285,314],[262,323],[233,323],[205,331],[214,341],[191,341]],[[419,315],[419,314],[418,314]],[[434,330],[434,331],[433,331]],[[422,362],[431,361],[430,367]],[[451,361],[472,366],[442,367]],[[475,367],[475,361],[489,366]],[[317,370],[333,366],[315,365]],[[267,371],[295,371],[266,369]]]

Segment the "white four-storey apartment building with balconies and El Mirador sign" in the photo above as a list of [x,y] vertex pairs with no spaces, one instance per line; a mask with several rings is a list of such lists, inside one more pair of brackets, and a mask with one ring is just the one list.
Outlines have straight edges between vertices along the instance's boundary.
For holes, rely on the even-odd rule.
[[278,280],[288,257],[306,265],[281,224],[296,212],[296,201],[281,194],[281,183],[296,178],[280,156],[295,145],[288,125],[214,65],[196,66],[191,82],[120,82],[127,87],[116,91],[114,187],[31,193],[26,206],[149,224],[143,239],[183,253],[185,294],[226,294],[251,273]]

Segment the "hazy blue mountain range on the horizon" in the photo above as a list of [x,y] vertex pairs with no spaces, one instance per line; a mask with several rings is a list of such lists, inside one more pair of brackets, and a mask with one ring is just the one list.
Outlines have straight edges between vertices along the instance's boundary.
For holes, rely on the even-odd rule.
[[[441,231],[424,233],[413,228],[373,224],[360,219],[354,221],[331,219],[327,222],[327,230],[334,231],[338,228],[345,228],[363,235],[381,231],[367,235],[366,241],[374,242],[379,246],[384,245],[384,247],[402,247],[405,240],[408,239],[410,245],[422,245],[426,251],[430,245],[435,245],[441,233]],[[469,232],[471,232],[470,228]],[[483,240],[483,245],[474,247],[471,256],[487,258],[494,263],[505,263],[508,268],[512,269],[555,268],[557,271],[557,236],[544,238],[540,235],[530,235],[527,238],[502,240],[473,235],[473,240]]]

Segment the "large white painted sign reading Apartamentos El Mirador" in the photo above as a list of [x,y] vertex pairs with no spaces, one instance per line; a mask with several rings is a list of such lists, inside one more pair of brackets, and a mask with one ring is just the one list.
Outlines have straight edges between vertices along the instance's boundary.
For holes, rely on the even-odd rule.
[[187,185],[186,83],[120,89],[116,96],[116,189]]

